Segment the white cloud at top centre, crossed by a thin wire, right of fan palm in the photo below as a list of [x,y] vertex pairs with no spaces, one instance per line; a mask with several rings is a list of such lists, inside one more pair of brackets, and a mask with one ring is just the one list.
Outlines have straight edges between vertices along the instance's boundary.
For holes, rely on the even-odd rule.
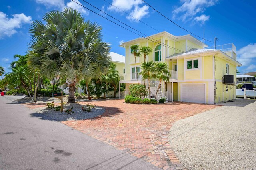
[[[128,12],[131,16],[134,18],[137,18],[140,20],[141,18],[148,16],[149,14],[149,7],[144,5],[140,6],[143,4],[142,0],[113,0],[112,5],[108,6],[108,10],[114,11],[114,12],[120,12],[122,14],[122,11]],[[116,7],[117,8],[116,8]],[[119,10],[119,9],[120,10]],[[127,16],[126,18],[130,21],[137,21],[131,16]]]

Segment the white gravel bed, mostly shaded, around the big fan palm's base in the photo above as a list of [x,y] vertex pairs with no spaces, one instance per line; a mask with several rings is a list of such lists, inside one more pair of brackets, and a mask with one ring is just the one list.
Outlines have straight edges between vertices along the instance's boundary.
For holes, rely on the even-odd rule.
[[[70,109],[74,107],[72,111],[74,113],[68,114],[64,112],[66,109]],[[46,115],[56,121],[70,121],[70,120],[83,120],[90,119],[102,115],[105,112],[105,109],[101,107],[92,108],[91,112],[82,111],[82,107],[86,107],[86,105],[81,105],[78,103],[71,103],[64,105],[64,111],[61,113],[60,111],[55,111],[55,109],[48,109],[47,107],[39,107],[33,109],[36,113],[41,113]]]

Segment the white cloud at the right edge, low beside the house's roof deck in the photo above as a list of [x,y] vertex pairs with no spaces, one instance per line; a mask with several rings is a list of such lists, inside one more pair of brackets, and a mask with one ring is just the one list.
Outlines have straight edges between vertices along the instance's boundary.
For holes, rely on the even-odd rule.
[[256,43],[242,47],[236,54],[238,62],[243,66],[251,66],[252,62],[256,62]]

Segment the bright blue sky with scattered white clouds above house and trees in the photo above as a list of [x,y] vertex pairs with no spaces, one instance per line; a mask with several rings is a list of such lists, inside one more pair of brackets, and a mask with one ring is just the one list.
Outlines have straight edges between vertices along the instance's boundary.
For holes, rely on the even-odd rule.
[[[185,35],[188,32],[175,26],[160,16],[141,0],[86,0],[102,9],[107,14],[121,20],[146,35],[167,31],[173,35]],[[114,6],[152,26],[156,30],[138,22],[131,16]],[[234,43],[241,73],[256,71],[256,3],[254,0],[145,0],[190,32],[214,41],[216,45]],[[82,0],[76,2],[101,14]],[[50,10],[63,10],[65,7],[78,9],[86,20],[97,22],[103,27],[103,39],[111,43],[111,51],[124,55],[124,48],[118,45],[122,41],[138,38],[138,35],[121,28],[108,20],[90,12],[70,0],[4,0],[0,6],[0,65],[6,72],[15,54],[24,55],[28,49],[30,35],[28,29],[31,22],[41,20],[44,13]],[[105,16],[109,18],[108,16]],[[113,20],[112,18],[110,18]],[[115,21],[117,22],[117,21]],[[122,25],[122,24],[121,24]],[[198,38],[201,40],[200,38]],[[205,42],[214,46],[212,42]]]

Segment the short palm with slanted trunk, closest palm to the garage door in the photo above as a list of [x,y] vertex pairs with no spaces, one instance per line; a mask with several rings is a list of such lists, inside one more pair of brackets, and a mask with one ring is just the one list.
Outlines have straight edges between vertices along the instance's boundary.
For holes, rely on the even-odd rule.
[[162,81],[169,81],[170,77],[170,72],[168,65],[166,63],[158,62],[155,65],[154,69],[154,74],[153,77],[159,80],[159,85],[156,90],[156,95],[157,96],[158,90],[161,87]]

